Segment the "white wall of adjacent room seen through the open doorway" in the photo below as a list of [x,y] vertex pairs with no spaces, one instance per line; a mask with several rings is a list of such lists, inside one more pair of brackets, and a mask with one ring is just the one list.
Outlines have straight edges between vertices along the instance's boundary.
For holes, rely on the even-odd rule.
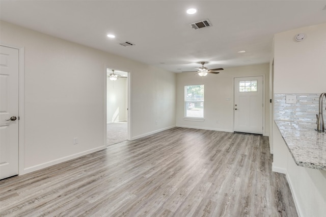
[[[108,72],[107,74],[110,74]],[[110,80],[106,78],[106,122],[127,121],[127,78]]]

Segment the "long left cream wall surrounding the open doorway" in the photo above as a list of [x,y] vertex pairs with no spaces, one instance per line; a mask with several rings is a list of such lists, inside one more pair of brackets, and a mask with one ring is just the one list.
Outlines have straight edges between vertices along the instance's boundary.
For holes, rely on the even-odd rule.
[[25,51],[19,174],[105,148],[106,67],[130,72],[132,139],[175,126],[174,73],[0,24],[1,43]]

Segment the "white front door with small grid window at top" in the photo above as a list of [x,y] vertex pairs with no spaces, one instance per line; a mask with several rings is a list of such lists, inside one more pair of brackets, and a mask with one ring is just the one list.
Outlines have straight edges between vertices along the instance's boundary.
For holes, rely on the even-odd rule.
[[234,131],[263,134],[263,77],[234,78]]

